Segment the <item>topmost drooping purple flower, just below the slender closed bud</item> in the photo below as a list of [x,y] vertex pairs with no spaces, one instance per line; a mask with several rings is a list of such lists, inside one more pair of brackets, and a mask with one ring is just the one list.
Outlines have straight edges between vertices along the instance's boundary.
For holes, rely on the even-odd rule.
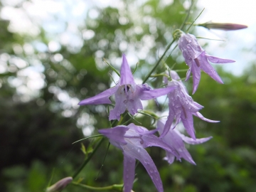
[[213,80],[223,83],[220,76],[214,68],[210,65],[211,63],[233,63],[235,60],[216,58],[208,55],[201,46],[199,46],[196,37],[191,34],[182,33],[178,39],[178,48],[182,51],[185,62],[188,65],[188,72],[186,74],[186,80],[193,73],[193,94],[196,92],[199,81],[201,78],[201,70],[210,75]]

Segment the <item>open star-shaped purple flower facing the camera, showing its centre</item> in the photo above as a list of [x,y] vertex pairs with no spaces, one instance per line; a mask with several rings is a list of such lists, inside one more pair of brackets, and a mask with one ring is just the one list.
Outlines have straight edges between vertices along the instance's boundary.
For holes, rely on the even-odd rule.
[[125,55],[122,55],[122,66],[120,72],[120,79],[116,86],[111,87],[104,92],[101,92],[94,97],[87,98],[78,103],[78,105],[97,105],[97,104],[111,104],[109,97],[114,95],[115,106],[110,111],[110,120],[120,119],[120,114],[125,110],[132,115],[137,113],[137,110],[142,110],[141,100],[151,100],[174,90],[175,87],[166,87],[152,90],[147,84],[137,85],[134,82],[132,71],[129,68]]

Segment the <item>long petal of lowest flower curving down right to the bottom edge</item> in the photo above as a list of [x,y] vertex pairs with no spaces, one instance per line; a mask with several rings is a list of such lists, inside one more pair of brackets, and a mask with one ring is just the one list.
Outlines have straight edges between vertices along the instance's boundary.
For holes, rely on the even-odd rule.
[[154,161],[151,159],[146,150],[142,147],[136,147],[130,143],[124,145],[123,149],[124,153],[129,154],[129,156],[134,156],[134,158],[138,159],[143,164],[157,190],[159,192],[164,192],[163,183],[161,182],[159,171],[157,171]]

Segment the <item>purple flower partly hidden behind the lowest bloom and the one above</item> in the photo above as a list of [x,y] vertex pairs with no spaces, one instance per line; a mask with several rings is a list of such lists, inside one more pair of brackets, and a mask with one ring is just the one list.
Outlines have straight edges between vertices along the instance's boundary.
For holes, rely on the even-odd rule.
[[[162,134],[164,131],[164,124],[166,120],[159,119],[156,123],[156,128],[159,131],[159,134]],[[183,142],[186,142],[187,144],[202,144],[204,142],[207,142],[213,137],[206,137],[202,139],[191,139],[190,137],[186,137],[185,135],[178,132],[177,129],[169,129],[169,132],[162,137],[161,139],[168,144],[169,146],[173,147],[176,151],[178,151],[178,154],[180,157],[185,159],[191,164],[196,165],[195,161],[193,161],[191,154],[189,154],[188,150],[186,149]],[[168,161],[169,164],[172,164],[174,162],[175,156],[174,154],[171,154],[169,151],[166,151],[166,157],[164,157],[164,160]]]

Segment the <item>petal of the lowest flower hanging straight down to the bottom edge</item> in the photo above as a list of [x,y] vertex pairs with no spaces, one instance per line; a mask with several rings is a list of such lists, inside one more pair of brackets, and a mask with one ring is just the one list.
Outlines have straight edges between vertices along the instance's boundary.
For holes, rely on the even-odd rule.
[[131,192],[135,176],[135,158],[124,152],[124,192]]

